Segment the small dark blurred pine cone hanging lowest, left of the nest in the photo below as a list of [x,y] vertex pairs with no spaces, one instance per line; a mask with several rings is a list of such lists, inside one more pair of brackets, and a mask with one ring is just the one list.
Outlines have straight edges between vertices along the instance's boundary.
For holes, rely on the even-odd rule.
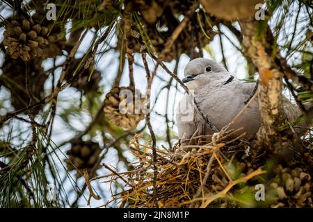
[[67,151],[69,157],[65,160],[67,170],[78,170],[76,174],[77,178],[83,175],[84,169],[87,169],[88,173],[90,173],[91,169],[95,167],[97,160],[99,160],[100,153],[101,148],[95,142],[72,142],[72,147]]

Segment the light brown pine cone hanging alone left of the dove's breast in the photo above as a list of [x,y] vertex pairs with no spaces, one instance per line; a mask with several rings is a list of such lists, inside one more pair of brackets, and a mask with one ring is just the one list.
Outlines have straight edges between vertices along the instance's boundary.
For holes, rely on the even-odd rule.
[[[123,94],[127,94],[127,97],[120,98]],[[145,99],[134,87],[114,87],[106,94],[104,104],[106,118],[125,130],[136,128],[138,123],[145,118],[141,109],[145,104]]]

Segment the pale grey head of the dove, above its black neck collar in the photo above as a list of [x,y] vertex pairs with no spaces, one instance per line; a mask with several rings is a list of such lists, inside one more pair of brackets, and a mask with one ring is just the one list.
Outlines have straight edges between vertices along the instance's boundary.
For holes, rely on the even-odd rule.
[[191,60],[185,67],[185,78],[188,89],[198,89],[209,83],[218,83],[230,77],[227,70],[214,60],[207,58],[196,58]]

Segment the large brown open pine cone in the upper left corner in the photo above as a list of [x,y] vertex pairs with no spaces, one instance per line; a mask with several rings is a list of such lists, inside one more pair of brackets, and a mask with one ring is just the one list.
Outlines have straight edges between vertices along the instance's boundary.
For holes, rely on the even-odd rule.
[[[5,26],[3,44],[8,54],[14,58],[29,61],[33,58],[55,58],[61,55],[65,46],[65,36],[61,28],[49,24],[43,26],[42,18],[35,14],[31,19],[8,19],[10,25]],[[50,33],[50,34],[49,34]]]

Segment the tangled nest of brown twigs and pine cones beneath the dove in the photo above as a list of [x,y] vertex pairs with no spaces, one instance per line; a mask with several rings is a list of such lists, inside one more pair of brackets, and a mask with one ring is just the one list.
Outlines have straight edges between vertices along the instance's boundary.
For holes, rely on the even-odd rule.
[[[125,190],[106,203],[115,201],[119,207],[313,207],[312,147],[278,162],[232,135],[234,131],[221,130],[193,137],[193,145],[178,142],[171,151],[157,148],[155,163],[152,146],[135,135],[130,146],[138,157],[134,169],[118,173],[104,164],[112,173],[92,180],[122,180]],[[257,193],[262,186],[264,198]]]

